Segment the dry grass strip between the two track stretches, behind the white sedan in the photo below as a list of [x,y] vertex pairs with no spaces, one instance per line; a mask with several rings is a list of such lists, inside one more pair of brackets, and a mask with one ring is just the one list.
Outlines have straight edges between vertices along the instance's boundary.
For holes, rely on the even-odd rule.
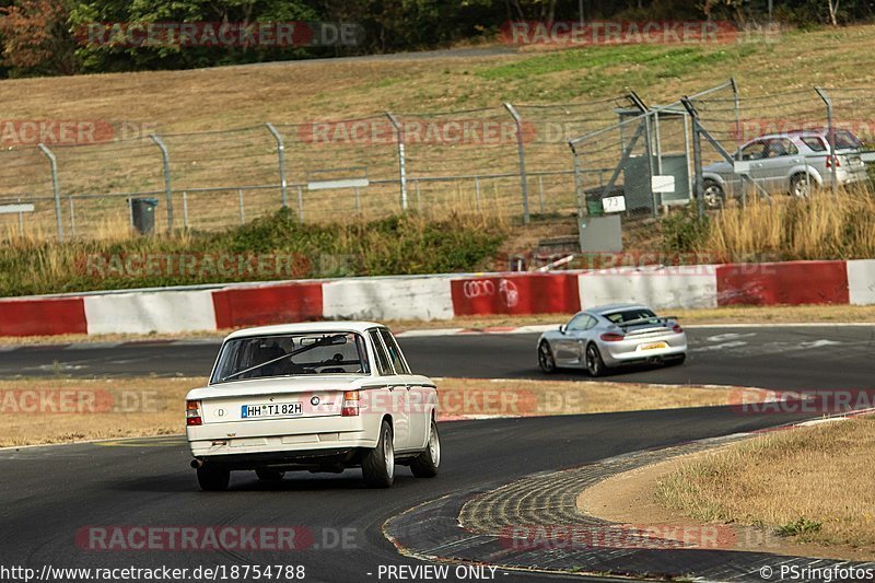
[[[171,435],[185,429],[186,393],[205,378],[22,378],[0,381],[0,446]],[[444,419],[698,407],[727,403],[728,389],[567,381],[438,380]],[[70,412],[27,412],[35,395],[61,395]],[[81,405],[80,405],[81,404]],[[43,409],[47,409],[46,405]]]

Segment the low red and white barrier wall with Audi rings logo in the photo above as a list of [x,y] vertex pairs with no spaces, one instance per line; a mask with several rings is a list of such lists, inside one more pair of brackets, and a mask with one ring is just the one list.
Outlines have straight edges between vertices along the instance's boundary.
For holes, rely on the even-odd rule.
[[0,336],[166,334],[323,318],[571,314],[616,302],[658,310],[875,304],[875,259],[346,278],[13,298],[0,300]]

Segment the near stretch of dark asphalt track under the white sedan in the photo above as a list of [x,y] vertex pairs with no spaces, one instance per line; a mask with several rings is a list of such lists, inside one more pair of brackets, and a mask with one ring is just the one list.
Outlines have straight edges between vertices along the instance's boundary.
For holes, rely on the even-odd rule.
[[[390,516],[458,489],[500,486],[517,477],[595,462],[646,447],[766,427],[789,418],[744,416],[727,408],[586,417],[442,423],[441,475],[413,478],[399,468],[390,490],[364,488],[358,470],[295,474],[278,485],[237,473],[226,492],[198,490],[182,438],[118,441],[0,452],[3,471],[0,556],[3,564],[188,567],[304,564],[306,581],[380,581],[380,565],[415,565],[383,537]],[[90,525],[301,525],[316,544],[347,530],[343,550],[96,551],[75,544]],[[327,530],[326,530],[327,529]],[[324,534],[327,533],[327,534]],[[368,573],[372,573],[369,575]],[[499,581],[552,579],[497,574]],[[580,576],[573,578],[581,581]],[[451,580],[454,580],[451,578]],[[386,579],[383,579],[386,581]]]

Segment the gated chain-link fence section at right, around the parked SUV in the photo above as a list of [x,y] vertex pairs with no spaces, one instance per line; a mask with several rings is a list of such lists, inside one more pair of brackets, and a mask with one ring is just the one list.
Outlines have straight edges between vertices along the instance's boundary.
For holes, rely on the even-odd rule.
[[655,214],[693,200],[704,212],[751,196],[867,185],[875,123],[866,95],[810,88],[743,96],[734,80],[662,106],[631,93],[615,124],[569,140],[578,211]]

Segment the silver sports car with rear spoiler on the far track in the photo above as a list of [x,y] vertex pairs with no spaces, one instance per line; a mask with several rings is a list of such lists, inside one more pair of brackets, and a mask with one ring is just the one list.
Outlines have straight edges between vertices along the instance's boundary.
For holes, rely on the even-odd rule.
[[677,318],[660,317],[638,304],[584,310],[538,339],[538,364],[546,373],[585,368],[599,376],[621,364],[680,364],[686,357],[687,335]]

